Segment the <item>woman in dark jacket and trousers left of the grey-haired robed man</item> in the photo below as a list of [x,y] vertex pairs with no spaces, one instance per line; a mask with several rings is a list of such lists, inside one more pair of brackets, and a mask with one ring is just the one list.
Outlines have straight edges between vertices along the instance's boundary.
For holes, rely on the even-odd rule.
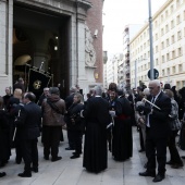
[[71,130],[72,143],[74,144],[75,152],[71,159],[79,158],[82,153],[82,137],[84,132],[84,119],[81,118],[81,111],[84,109],[82,103],[83,97],[76,92],[73,97],[73,104],[69,108],[65,114],[65,122]]

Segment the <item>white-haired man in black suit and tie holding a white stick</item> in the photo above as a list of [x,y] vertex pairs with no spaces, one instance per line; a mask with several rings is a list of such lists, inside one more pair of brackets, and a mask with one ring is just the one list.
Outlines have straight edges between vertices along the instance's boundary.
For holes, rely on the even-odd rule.
[[[149,83],[151,97],[143,107],[147,115],[146,125],[146,156],[148,159],[147,171],[140,172],[140,176],[152,176],[153,182],[160,182],[165,176],[166,162],[166,140],[169,135],[169,114],[171,112],[171,100],[161,91],[161,85],[158,79]],[[156,156],[158,161],[158,174],[156,175]]]

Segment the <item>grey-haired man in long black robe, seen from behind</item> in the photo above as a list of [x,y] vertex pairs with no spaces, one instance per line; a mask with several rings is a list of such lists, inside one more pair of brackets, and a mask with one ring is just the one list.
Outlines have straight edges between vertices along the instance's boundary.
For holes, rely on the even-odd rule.
[[86,120],[83,166],[95,173],[107,169],[107,125],[111,122],[109,102],[101,95],[101,87],[96,86],[95,97],[88,99],[81,112]]

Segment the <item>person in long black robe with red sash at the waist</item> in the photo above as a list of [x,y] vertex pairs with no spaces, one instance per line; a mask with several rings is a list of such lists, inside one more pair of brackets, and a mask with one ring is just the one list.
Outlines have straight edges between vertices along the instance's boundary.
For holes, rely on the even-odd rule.
[[115,102],[115,118],[113,126],[112,156],[116,161],[124,161],[133,156],[132,108],[130,101],[119,90]]

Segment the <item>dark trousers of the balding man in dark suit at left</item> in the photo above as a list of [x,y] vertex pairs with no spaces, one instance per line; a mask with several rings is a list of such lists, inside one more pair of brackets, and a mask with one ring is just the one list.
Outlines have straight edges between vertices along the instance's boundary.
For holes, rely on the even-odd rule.
[[32,163],[33,168],[38,168],[37,138],[21,140],[21,149],[25,163],[24,171],[25,173],[30,173]]

